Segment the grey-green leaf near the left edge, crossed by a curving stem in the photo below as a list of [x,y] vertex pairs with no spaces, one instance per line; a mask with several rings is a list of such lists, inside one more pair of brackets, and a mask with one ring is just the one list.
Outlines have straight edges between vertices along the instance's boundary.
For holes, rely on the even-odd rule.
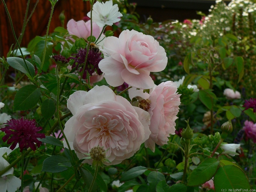
[[35,76],[35,67],[27,60],[26,60],[26,63],[28,65],[28,68],[27,68],[26,64],[24,63],[24,60],[19,57],[8,57],[6,60],[7,60],[7,63],[12,68],[15,68],[25,74],[29,73],[29,71],[30,71],[32,77]]

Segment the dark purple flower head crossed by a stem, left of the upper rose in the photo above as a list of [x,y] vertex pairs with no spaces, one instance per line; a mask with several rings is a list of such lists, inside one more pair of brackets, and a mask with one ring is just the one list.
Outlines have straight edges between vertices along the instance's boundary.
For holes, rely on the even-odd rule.
[[[73,59],[75,62],[72,65],[72,68],[76,67],[76,70],[80,68],[79,72],[83,70],[84,64],[85,64],[85,69],[84,69],[84,74],[83,74],[83,79],[86,79],[87,76],[87,71],[92,76],[94,71],[96,70],[98,75],[102,74],[102,71],[99,68],[99,62],[103,58],[101,57],[101,53],[96,51],[95,49],[90,49],[88,52],[87,56],[87,61],[85,63],[85,56],[86,56],[86,48],[80,48],[77,50],[77,53],[74,54],[76,57],[69,57],[68,59]],[[77,64],[76,64],[77,63]]]

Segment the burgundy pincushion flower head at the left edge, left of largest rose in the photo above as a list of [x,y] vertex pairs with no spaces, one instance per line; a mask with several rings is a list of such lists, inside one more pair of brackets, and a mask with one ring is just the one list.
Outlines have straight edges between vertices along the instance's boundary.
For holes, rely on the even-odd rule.
[[[37,138],[45,138],[44,133],[37,133],[42,130],[42,127],[36,127],[36,121],[24,119],[11,119],[7,121],[7,126],[1,128],[0,130],[5,132],[5,136],[3,137],[3,141],[7,140],[7,144],[12,143],[10,149],[14,149],[19,143],[20,152],[23,151],[24,148],[31,148],[32,150],[36,150],[37,147],[40,147],[42,141],[39,141]],[[35,145],[36,143],[36,145]]]

